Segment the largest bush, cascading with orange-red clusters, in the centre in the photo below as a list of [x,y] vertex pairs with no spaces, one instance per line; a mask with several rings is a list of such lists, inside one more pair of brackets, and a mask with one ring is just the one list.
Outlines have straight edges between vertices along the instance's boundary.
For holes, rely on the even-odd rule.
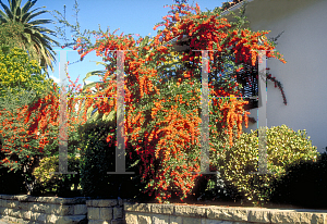
[[[83,59],[90,51],[102,57],[106,71],[95,97],[85,100],[85,107],[98,108],[98,112],[108,116],[117,110],[117,50],[124,53],[125,76],[125,135],[131,157],[140,158],[140,174],[147,183],[146,191],[154,194],[161,202],[171,197],[186,198],[196,177],[199,175],[201,142],[201,52],[209,50],[209,105],[210,151],[218,157],[223,147],[232,145],[235,130],[241,134],[242,123],[247,113],[239,99],[219,97],[241,97],[240,87],[233,72],[228,72],[226,63],[230,62],[232,71],[242,70],[242,64],[255,65],[257,52],[269,50],[268,58],[280,54],[265,37],[268,32],[241,29],[238,24],[230,24],[219,17],[219,12],[201,12],[198,5],[172,5],[178,9],[172,15],[165,16],[154,38],[140,37],[134,40],[131,35],[120,36],[107,30],[94,32],[96,43],[90,45],[83,36],[77,38],[77,49]],[[240,23],[241,24],[241,23]],[[190,49],[175,53],[170,40],[178,37],[180,41],[187,37]],[[263,41],[262,41],[263,40]],[[262,41],[262,43],[261,43]],[[215,51],[213,51],[215,50]],[[221,75],[222,74],[222,75]],[[90,92],[85,89],[84,94]],[[86,114],[86,111],[84,112]],[[112,134],[108,134],[112,138]],[[221,139],[223,139],[221,141]],[[215,169],[215,167],[213,167]]]

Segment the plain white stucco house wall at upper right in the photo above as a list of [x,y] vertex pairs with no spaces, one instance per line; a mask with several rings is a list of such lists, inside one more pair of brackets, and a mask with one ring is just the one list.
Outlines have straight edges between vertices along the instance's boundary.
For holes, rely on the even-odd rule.
[[[252,30],[271,30],[277,50],[287,64],[267,61],[271,75],[283,85],[288,104],[272,82],[267,86],[268,127],[288,125],[306,129],[319,152],[327,147],[327,1],[326,0],[254,0],[246,15]],[[257,110],[251,116],[256,117]],[[245,132],[256,129],[250,125]]]

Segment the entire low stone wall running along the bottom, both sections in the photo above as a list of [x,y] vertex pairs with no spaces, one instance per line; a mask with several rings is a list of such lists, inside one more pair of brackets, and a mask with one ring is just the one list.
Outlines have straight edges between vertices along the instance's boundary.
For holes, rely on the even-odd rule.
[[327,210],[130,203],[0,195],[0,219],[22,224],[327,224]]

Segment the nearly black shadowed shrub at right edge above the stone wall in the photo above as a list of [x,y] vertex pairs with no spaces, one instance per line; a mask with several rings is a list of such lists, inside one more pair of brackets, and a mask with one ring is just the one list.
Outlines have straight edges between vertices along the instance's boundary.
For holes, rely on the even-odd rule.
[[327,209],[327,152],[316,162],[299,162],[286,170],[287,174],[274,183],[271,202]]

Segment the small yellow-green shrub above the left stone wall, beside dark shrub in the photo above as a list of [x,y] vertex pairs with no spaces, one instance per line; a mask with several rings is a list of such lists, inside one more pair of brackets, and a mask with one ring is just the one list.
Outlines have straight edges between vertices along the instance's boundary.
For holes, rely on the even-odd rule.
[[68,171],[77,172],[77,174],[51,174],[59,172],[59,157],[44,158],[33,172],[35,184],[32,194],[59,197],[78,196],[80,159],[77,157],[68,157]]

